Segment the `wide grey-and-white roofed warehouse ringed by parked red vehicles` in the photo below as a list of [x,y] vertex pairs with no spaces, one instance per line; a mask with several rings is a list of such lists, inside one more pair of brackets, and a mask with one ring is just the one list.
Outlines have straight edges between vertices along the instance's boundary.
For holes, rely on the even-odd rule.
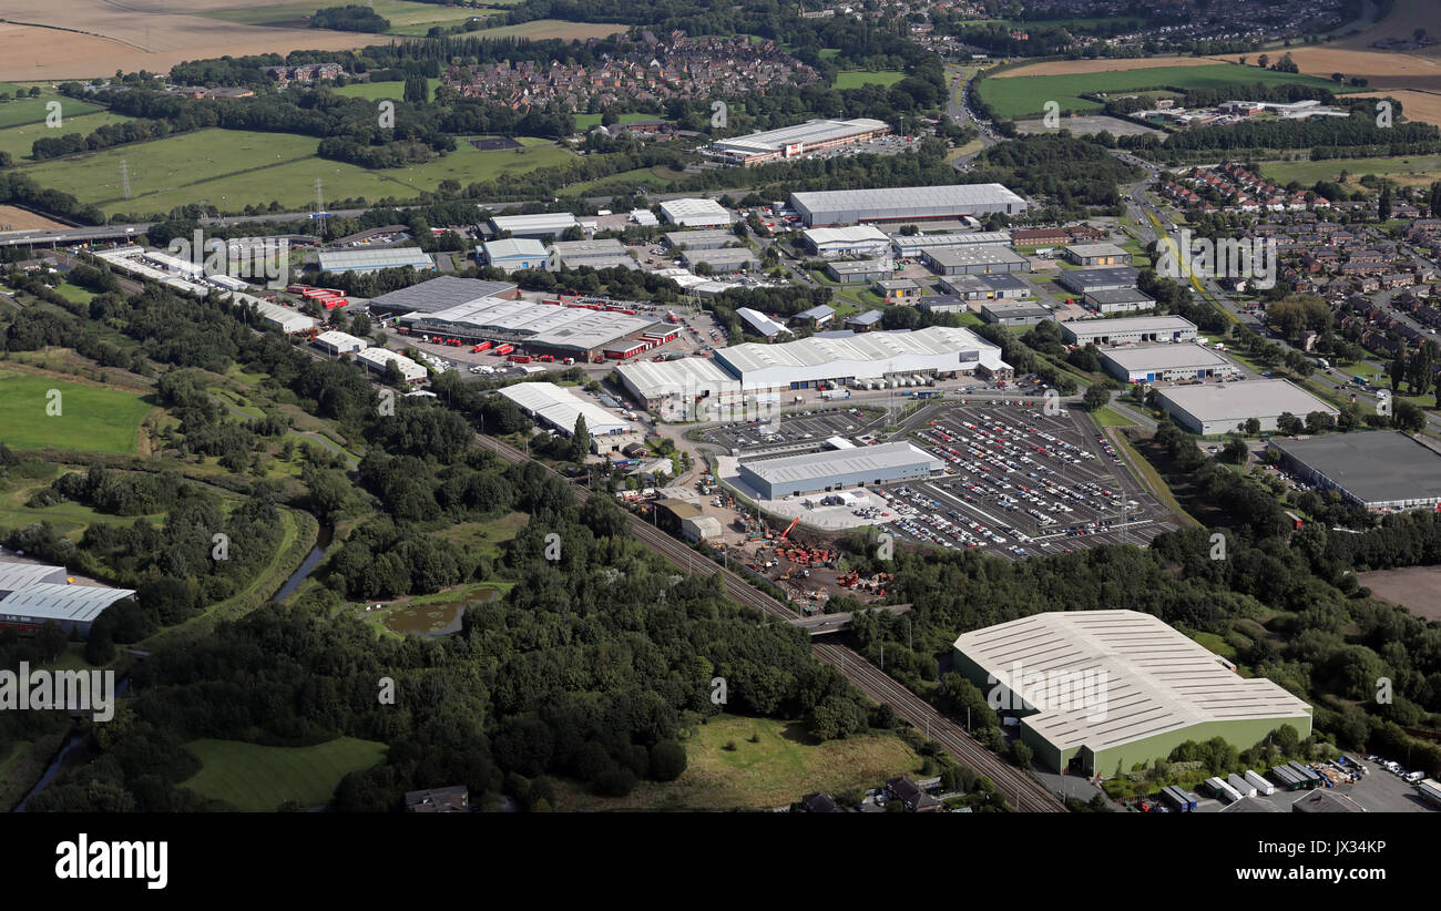
[[648,316],[488,297],[437,313],[406,314],[401,327],[411,336],[460,339],[467,345],[509,342],[523,345],[530,355],[594,360],[661,323]]

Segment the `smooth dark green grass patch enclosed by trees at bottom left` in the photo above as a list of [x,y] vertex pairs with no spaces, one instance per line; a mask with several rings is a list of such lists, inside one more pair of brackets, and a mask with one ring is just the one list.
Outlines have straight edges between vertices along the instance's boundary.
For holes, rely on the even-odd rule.
[[303,807],[329,803],[340,780],[385,758],[385,744],[342,737],[316,747],[259,747],[242,741],[186,744],[203,763],[182,783],[248,813],[268,813],[287,800]]

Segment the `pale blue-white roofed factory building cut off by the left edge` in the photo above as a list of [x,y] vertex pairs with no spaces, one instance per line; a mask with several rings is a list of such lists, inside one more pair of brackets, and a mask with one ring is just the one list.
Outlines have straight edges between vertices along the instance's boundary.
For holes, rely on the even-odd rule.
[[36,633],[46,623],[82,639],[105,610],[134,590],[75,585],[65,566],[0,558],[0,628]]

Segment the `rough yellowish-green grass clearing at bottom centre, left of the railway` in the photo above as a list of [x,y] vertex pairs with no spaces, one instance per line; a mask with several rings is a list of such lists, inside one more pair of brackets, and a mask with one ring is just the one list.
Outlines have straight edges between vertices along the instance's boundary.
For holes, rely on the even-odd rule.
[[[758,742],[751,742],[755,735]],[[735,750],[726,750],[733,744]],[[891,734],[814,742],[800,722],[720,715],[683,741],[686,771],[674,781],[643,781],[623,799],[594,797],[558,783],[559,810],[728,810],[778,807],[801,794],[867,788],[914,774],[915,752]]]

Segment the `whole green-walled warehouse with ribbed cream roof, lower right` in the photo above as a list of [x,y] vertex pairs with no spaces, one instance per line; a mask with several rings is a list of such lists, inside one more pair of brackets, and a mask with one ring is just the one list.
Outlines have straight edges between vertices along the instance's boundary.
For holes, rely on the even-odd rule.
[[955,669],[1022,715],[1022,739],[1056,771],[1112,776],[1213,737],[1248,750],[1281,725],[1311,734],[1310,705],[1138,611],[1046,613],[965,633]]

